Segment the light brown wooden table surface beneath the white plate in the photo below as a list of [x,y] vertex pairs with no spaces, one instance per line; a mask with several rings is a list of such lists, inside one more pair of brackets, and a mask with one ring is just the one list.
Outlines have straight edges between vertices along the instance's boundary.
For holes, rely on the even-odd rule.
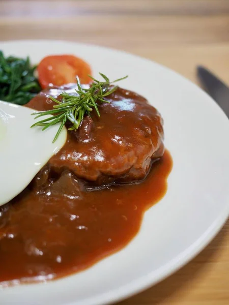
[[[203,64],[229,83],[229,0],[1,0],[0,40],[12,39],[115,47],[196,83]],[[228,305],[229,222],[175,275],[119,304]]]

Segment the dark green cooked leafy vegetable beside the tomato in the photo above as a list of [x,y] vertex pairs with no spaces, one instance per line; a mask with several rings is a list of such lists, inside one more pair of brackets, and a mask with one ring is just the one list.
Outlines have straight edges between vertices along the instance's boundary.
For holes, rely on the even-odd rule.
[[0,51],[0,100],[18,105],[28,103],[41,91],[30,59],[5,57]]

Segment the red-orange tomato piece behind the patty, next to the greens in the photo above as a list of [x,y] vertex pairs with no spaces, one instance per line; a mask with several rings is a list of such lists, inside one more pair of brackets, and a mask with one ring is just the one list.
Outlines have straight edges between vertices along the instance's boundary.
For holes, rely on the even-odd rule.
[[82,84],[91,83],[88,76],[90,66],[74,55],[50,55],[44,57],[38,65],[38,80],[42,88],[49,85],[61,86],[76,82],[78,75]]

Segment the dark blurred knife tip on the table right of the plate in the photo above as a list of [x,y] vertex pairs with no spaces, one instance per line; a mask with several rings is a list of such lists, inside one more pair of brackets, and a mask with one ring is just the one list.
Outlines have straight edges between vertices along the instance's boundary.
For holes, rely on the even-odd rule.
[[204,89],[229,118],[229,87],[203,66],[197,67],[197,76]]

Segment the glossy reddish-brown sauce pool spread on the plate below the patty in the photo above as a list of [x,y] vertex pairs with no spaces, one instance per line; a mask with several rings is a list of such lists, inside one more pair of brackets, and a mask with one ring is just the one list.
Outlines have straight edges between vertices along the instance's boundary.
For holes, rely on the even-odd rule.
[[166,193],[171,167],[166,150],[139,184],[87,191],[80,199],[25,190],[2,206],[0,286],[67,276],[122,249]]

